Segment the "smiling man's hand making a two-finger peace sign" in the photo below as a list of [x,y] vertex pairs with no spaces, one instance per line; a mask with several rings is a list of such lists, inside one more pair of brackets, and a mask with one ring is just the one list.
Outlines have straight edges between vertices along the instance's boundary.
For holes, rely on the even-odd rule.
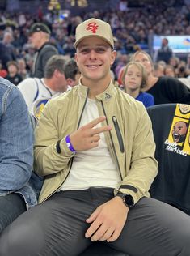
[[98,117],[87,125],[78,128],[74,133],[70,134],[70,143],[75,151],[85,151],[93,147],[99,146],[100,133],[112,130],[112,126],[101,126],[95,128],[100,122],[103,122],[106,117]]

